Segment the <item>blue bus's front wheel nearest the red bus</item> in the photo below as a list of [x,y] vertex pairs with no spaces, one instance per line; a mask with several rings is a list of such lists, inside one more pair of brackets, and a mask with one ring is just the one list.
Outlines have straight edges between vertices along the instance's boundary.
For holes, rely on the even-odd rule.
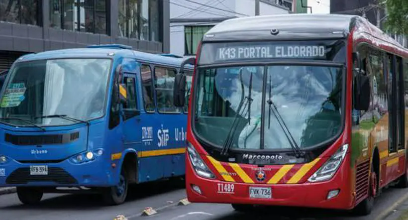
[[127,196],[127,189],[128,181],[126,179],[126,175],[122,171],[119,176],[119,183],[116,186],[109,187],[102,192],[104,202],[109,206],[124,203]]

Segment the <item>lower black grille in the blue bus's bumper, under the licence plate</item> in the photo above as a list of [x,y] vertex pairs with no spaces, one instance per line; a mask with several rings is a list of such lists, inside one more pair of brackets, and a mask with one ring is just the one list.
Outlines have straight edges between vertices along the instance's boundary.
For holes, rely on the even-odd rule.
[[64,169],[49,167],[48,175],[31,176],[30,168],[18,168],[5,180],[6,184],[27,184],[29,182],[54,182],[57,184],[77,184],[78,181]]

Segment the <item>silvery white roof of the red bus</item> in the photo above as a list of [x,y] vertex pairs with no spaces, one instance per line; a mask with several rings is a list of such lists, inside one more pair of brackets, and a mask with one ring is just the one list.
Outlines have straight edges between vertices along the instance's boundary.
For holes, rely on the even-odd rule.
[[408,57],[408,50],[377,26],[361,16],[347,14],[278,14],[232,18],[208,30],[203,42],[340,39],[349,36],[351,31],[354,31],[355,42],[371,42],[389,52]]

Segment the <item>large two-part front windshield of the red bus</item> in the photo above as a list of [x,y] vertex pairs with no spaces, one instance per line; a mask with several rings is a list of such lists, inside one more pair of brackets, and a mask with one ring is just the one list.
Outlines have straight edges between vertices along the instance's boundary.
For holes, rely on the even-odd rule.
[[290,149],[284,127],[300,148],[306,148],[341,129],[340,67],[234,66],[202,68],[198,73],[194,127],[212,145],[223,146],[237,114],[231,149]]

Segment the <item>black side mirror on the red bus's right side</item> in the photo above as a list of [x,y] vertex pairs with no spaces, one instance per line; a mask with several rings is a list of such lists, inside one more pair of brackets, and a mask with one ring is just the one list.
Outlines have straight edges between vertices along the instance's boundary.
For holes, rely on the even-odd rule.
[[357,90],[354,92],[354,109],[366,111],[370,107],[370,77],[357,74],[354,79]]

